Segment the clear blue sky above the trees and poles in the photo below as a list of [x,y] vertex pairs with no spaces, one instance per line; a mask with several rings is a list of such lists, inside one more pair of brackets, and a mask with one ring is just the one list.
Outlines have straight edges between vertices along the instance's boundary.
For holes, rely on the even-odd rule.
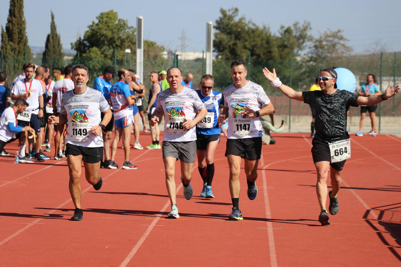
[[[38,5],[41,3],[41,5]],[[140,4],[134,4],[140,3]],[[270,6],[269,6],[270,4]],[[55,14],[57,31],[63,47],[70,49],[71,42],[81,35],[101,12],[113,9],[119,18],[136,27],[136,17],[144,17],[144,38],[156,41],[167,49],[180,51],[182,30],[189,40],[186,51],[205,50],[206,22],[220,16],[220,8],[238,7],[239,14],[258,25],[265,24],[272,32],[280,25],[290,26],[295,21],[308,20],[312,35],[342,29],[354,52],[362,53],[380,41],[389,52],[401,50],[401,1],[24,1],[26,31],[30,46],[45,46],[50,32],[50,10]],[[4,27],[8,16],[9,1],[2,0],[0,23]]]

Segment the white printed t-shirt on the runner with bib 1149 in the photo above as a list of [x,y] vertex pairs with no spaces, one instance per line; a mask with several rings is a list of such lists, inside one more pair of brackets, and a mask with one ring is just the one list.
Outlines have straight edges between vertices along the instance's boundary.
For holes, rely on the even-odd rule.
[[102,134],[91,133],[93,126],[101,122],[101,112],[109,109],[103,94],[93,88],[87,88],[83,94],[67,91],[61,99],[60,114],[67,114],[67,144],[81,147],[103,147]]

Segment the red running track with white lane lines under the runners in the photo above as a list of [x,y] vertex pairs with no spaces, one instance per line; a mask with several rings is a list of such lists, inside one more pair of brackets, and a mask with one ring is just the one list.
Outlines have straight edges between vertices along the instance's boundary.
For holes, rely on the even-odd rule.
[[[81,180],[83,221],[69,221],[73,204],[66,161],[14,165],[1,157],[2,266],[389,266],[401,259],[401,140],[352,137],[342,173],[340,211],[318,223],[316,171],[307,134],[274,135],[263,145],[255,200],[241,173],[243,221],[231,211],[225,138],[215,155],[214,199],[194,165],[194,197],[182,195],[179,219],[170,211],[161,150],[131,150],[137,170],[101,169],[103,187]],[[150,143],[141,135],[142,145]],[[17,149],[16,143],[7,146]],[[53,154],[53,153],[49,153]],[[117,152],[122,163],[122,150]],[[177,163],[179,170],[179,163]],[[328,183],[330,185],[330,183]]]

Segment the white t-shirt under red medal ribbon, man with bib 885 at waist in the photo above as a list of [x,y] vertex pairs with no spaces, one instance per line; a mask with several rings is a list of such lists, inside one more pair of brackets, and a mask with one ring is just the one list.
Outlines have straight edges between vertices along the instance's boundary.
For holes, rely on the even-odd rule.
[[14,84],[11,92],[15,95],[26,94],[29,88],[31,92],[30,96],[28,98],[23,97],[29,104],[25,110],[31,110],[32,114],[37,115],[39,113],[39,96],[43,94],[42,84],[39,80],[32,79],[32,85],[31,82],[25,83],[25,80],[19,80]]

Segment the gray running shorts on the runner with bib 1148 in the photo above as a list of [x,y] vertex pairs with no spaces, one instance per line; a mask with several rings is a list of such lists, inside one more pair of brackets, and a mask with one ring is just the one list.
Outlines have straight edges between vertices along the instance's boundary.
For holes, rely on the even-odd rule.
[[185,163],[193,163],[196,155],[196,141],[170,142],[163,141],[163,158],[173,157]]

